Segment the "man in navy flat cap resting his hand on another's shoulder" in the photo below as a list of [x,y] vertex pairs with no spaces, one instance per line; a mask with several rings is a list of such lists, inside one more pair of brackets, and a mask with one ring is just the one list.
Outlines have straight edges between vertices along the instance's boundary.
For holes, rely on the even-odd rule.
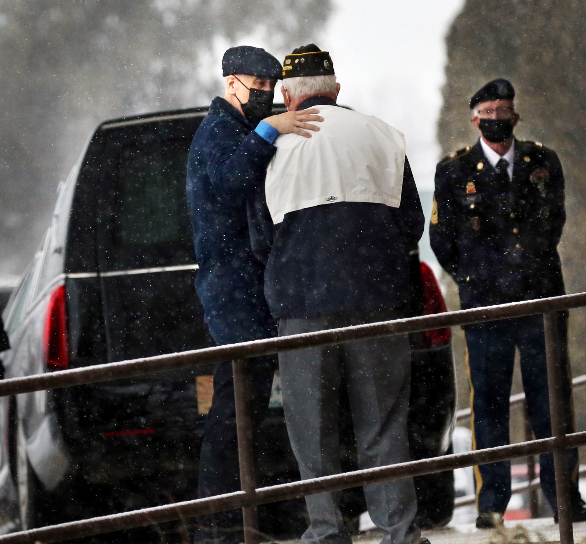
[[[231,47],[222,60],[224,97],[212,101],[189,151],[187,200],[199,271],[197,295],[216,344],[234,344],[277,334],[263,294],[263,267],[254,257],[247,210],[275,153],[279,134],[311,137],[318,110],[272,115],[281,64],[264,49]],[[253,429],[268,407],[274,357],[250,365]],[[214,372],[212,406],[200,454],[199,497],[240,489],[234,384],[230,363]],[[240,510],[203,521],[197,542],[243,540]]]

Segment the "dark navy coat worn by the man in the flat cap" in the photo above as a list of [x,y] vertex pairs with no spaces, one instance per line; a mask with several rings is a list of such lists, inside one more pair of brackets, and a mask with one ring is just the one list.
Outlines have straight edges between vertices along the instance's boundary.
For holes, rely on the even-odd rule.
[[251,250],[247,203],[263,185],[273,145],[224,98],[214,98],[189,151],[187,202],[197,295],[219,344],[274,335],[263,266]]

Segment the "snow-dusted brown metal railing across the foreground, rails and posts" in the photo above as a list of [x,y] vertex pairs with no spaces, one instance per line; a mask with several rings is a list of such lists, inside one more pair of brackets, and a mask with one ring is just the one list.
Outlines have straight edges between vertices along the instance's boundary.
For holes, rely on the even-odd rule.
[[[541,300],[515,302],[492,307],[474,308],[444,312],[442,314],[396,319],[380,323],[356,325],[311,332],[281,338],[241,342],[240,344],[218,346],[182,353],[172,353],[150,358],[134,359],[118,363],[107,363],[25,378],[11,378],[0,381],[0,396],[17,395],[40,390],[57,389],[73,385],[104,382],[120,378],[145,375],[152,372],[165,372],[179,368],[221,361],[233,361],[234,397],[236,402],[237,434],[240,456],[241,491],[218,495],[205,499],[179,502],[131,512],[121,512],[60,523],[42,528],[30,529],[0,536],[0,544],[35,544],[60,542],[84,536],[100,535],[124,529],[155,525],[156,523],[192,518],[202,514],[212,514],[227,509],[242,508],[244,515],[244,535],[247,544],[258,542],[256,507],[268,502],[304,497],[319,492],[335,491],[359,485],[373,484],[387,480],[408,478],[416,475],[442,472],[460,467],[494,463],[527,455],[553,451],[556,474],[556,495],[562,544],[573,544],[571,522],[569,477],[565,450],[586,444],[586,432],[565,434],[564,399],[561,393],[560,355],[558,351],[557,311],[586,306],[586,293],[543,298]],[[421,332],[428,329],[468,325],[473,323],[522,317],[523,315],[544,314],[546,341],[547,380],[551,414],[551,438],[525,441],[509,446],[486,448],[460,454],[442,455],[420,461],[369,468],[343,474],[335,474],[312,480],[302,480],[289,484],[255,488],[254,467],[252,463],[252,441],[250,440],[250,413],[245,386],[247,379],[246,359],[271,353],[292,351],[309,347],[340,344],[357,340],[379,338]]]

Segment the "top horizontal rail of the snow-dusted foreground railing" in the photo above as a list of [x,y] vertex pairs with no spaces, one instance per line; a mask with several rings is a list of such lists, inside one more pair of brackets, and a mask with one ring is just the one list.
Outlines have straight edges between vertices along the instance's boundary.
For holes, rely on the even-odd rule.
[[107,382],[154,372],[168,372],[169,370],[221,361],[248,359],[295,349],[342,344],[357,340],[380,338],[381,336],[421,332],[455,325],[469,325],[497,319],[521,317],[523,315],[543,314],[544,312],[555,312],[582,306],[586,306],[586,293],[541,298],[525,302],[511,302],[510,304],[473,308],[472,310],[443,312],[441,314],[396,319],[395,321],[356,325],[355,327],[255,340],[253,342],[240,342],[239,344],[131,359],[130,361],[117,363],[105,363],[86,368],[57,370],[56,372],[35,374],[23,378],[1,380],[0,396]]

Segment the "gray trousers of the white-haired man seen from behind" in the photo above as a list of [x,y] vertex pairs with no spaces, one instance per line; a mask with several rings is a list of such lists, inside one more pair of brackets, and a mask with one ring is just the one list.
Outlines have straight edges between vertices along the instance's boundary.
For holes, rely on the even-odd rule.
[[[281,318],[279,336],[397,318],[396,312]],[[339,395],[350,399],[359,468],[409,461],[407,413],[411,353],[407,335],[279,354],[285,420],[301,478],[339,474]],[[417,543],[410,526],[417,499],[412,478],[364,486],[372,521],[384,544]],[[304,543],[351,544],[340,492],[305,497],[311,525]]]

